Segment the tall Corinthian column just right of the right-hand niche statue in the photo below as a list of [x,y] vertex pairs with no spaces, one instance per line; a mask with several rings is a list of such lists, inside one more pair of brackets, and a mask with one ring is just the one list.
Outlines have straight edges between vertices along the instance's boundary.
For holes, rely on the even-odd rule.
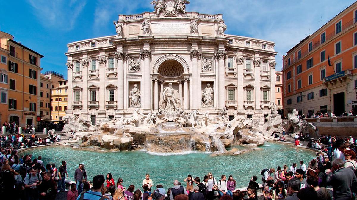
[[215,53],[215,58],[218,59],[218,109],[224,109],[226,104],[226,93],[225,93],[225,67],[224,59],[227,56],[227,52],[218,51]]

